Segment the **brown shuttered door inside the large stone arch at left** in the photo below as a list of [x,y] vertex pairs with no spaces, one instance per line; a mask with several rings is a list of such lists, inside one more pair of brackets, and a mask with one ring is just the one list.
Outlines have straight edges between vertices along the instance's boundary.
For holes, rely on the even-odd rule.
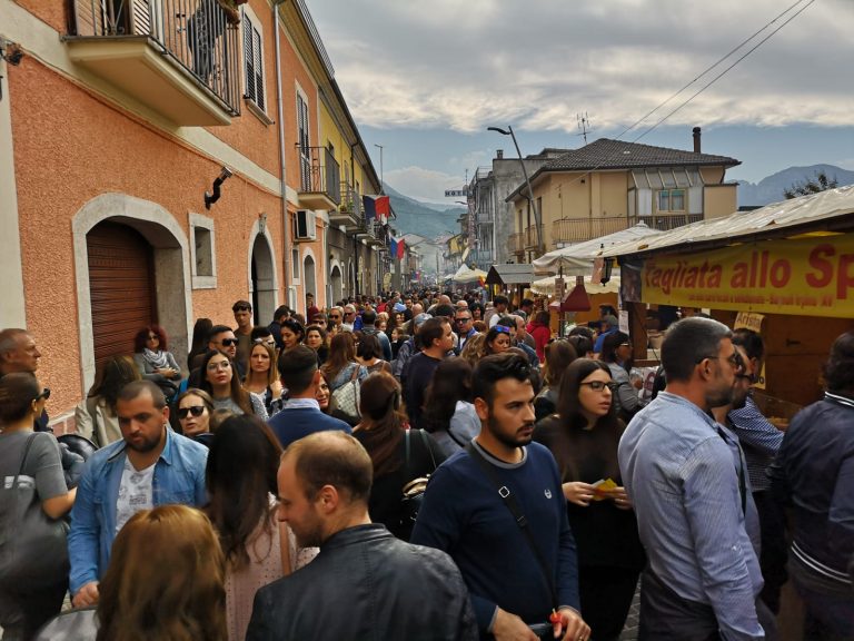
[[153,248],[136,229],[99,223],[86,235],[95,365],[133,352],[140,328],[158,322]]

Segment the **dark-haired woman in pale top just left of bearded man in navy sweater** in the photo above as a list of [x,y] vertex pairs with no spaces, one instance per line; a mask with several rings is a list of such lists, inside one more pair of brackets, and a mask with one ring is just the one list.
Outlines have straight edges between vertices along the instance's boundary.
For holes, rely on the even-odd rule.
[[425,426],[448,456],[480,433],[471,398],[471,365],[465,358],[439,363],[425,398]]

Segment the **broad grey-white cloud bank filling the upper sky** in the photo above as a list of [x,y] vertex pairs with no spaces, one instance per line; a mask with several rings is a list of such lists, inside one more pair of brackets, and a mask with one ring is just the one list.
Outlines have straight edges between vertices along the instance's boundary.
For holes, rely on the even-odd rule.
[[[311,9],[363,125],[471,132],[487,122],[520,122],[574,132],[579,111],[604,128],[634,122],[782,7],[778,0],[324,0]],[[854,126],[846,81],[852,30],[854,2],[816,2],[668,122]]]

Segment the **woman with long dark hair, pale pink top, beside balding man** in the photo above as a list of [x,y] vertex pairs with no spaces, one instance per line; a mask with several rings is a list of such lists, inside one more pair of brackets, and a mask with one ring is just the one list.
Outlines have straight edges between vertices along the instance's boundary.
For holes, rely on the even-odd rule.
[[280,457],[276,435],[252,416],[226,420],[210,445],[206,513],[226,556],[226,619],[231,641],[246,637],[258,589],[314,558],[311,550],[296,550],[290,529],[276,519]]

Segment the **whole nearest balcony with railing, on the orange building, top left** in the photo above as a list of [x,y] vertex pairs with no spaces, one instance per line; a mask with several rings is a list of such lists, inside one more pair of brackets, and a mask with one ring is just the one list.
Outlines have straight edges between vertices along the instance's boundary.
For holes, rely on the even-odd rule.
[[75,0],[71,60],[179,126],[240,115],[240,38],[216,0]]

